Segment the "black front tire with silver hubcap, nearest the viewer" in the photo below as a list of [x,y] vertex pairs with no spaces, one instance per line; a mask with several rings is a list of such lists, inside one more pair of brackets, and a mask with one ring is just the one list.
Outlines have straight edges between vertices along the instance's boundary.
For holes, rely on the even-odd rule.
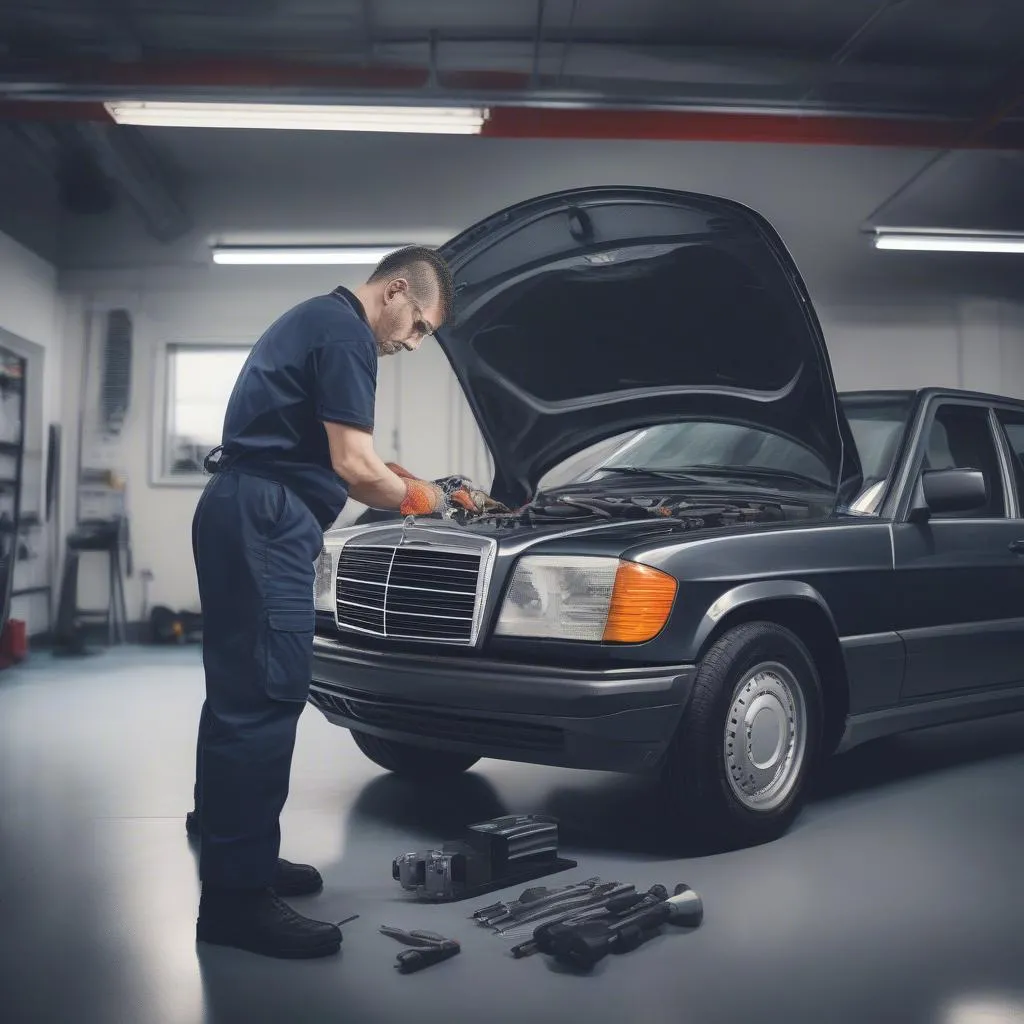
[[[755,719],[745,738],[732,728]],[[673,833],[719,851],[784,835],[819,757],[821,721],[818,672],[796,634],[766,622],[723,634],[697,668],[666,757]]]

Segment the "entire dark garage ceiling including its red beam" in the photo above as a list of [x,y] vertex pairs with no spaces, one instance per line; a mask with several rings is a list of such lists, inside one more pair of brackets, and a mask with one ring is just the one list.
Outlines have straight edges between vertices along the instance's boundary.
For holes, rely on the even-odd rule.
[[118,96],[474,101],[506,138],[1024,152],[1024,2],[0,0],[0,147],[65,209],[120,195],[179,237],[174,161],[111,122]]

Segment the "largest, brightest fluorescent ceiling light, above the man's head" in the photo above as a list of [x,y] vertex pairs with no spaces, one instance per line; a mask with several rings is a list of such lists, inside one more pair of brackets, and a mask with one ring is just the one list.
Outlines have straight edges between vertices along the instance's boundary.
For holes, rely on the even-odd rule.
[[276,128],[292,131],[433,132],[476,135],[482,108],[338,106],[327,103],[205,103],[118,99],[103,104],[120,125]]

